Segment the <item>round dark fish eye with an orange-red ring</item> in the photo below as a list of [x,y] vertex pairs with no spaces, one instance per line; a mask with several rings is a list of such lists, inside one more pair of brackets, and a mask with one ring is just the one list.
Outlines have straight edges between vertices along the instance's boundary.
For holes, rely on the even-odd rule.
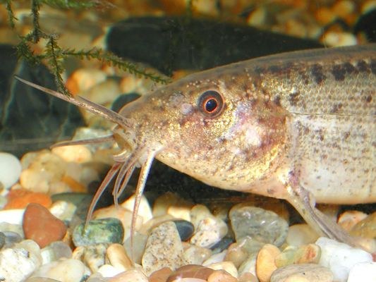
[[217,116],[224,108],[222,95],[214,90],[205,91],[198,99],[198,108],[206,116]]

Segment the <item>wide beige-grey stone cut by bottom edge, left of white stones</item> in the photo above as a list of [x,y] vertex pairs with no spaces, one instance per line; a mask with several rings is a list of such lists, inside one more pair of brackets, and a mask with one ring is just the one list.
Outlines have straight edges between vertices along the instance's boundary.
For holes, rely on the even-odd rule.
[[273,272],[270,282],[332,282],[333,274],[317,264],[292,264]]

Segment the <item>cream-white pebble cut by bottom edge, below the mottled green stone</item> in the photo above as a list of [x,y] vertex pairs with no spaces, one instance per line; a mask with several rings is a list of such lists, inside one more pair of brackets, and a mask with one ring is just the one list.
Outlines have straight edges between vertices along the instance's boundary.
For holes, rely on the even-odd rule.
[[83,262],[77,259],[61,259],[57,262],[43,264],[32,274],[32,277],[42,276],[63,282],[80,282],[89,275],[90,270]]

